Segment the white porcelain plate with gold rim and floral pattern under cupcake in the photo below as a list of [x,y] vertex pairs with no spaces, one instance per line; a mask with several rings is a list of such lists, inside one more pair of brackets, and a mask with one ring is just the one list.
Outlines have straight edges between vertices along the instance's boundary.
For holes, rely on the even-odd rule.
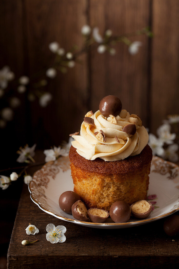
[[67,190],[73,190],[68,157],[60,157],[55,162],[46,163],[35,172],[29,184],[32,201],[41,210],[56,218],[93,228],[133,227],[158,220],[179,210],[179,167],[159,157],[153,157],[148,190],[148,200],[153,204],[153,211],[144,220],[131,218],[125,223],[114,223],[111,218],[105,223],[77,221],[72,215],[63,212],[58,204],[60,194]]

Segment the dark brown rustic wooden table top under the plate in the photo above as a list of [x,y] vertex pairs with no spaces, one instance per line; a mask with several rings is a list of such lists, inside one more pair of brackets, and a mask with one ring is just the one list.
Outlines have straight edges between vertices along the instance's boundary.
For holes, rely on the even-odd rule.
[[[178,237],[167,236],[163,222],[114,230],[80,226],[43,212],[31,201],[24,184],[8,250],[8,268],[176,268]],[[26,234],[29,223],[39,229],[38,234]],[[46,240],[48,223],[66,226],[64,243]],[[23,246],[24,239],[39,241]]]

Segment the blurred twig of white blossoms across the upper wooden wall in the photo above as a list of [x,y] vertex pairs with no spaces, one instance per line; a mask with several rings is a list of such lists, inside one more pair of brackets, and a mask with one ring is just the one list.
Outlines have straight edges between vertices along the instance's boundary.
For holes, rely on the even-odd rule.
[[[115,55],[116,50],[113,48],[119,42],[128,46],[128,51],[131,55],[138,53],[142,43],[140,41],[132,42],[130,37],[145,34],[148,37],[152,36],[148,28],[135,31],[130,34],[113,36],[112,30],[105,31],[104,36],[99,33],[98,27],[93,29],[89,25],[84,25],[81,28],[81,34],[84,36],[84,44],[81,49],[74,45],[70,50],[65,51],[60,47],[58,42],[49,44],[49,49],[55,54],[53,64],[38,73],[34,73],[30,78],[21,76],[17,80],[13,80],[15,74],[8,66],[4,66],[0,70],[0,99],[8,96],[9,107],[5,106],[0,111],[0,128],[5,128],[8,121],[12,121],[15,109],[20,106],[20,99],[16,97],[18,94],[24,94],[27,91],[29,101],[38,99],[41,107],[46,107],[52,100],[52,94],[46,92],[44,87],[48,84],[49,79],[54,79],[59,72],[66,73],[68,68],[73,68],[76,63],[79,63],[79,56],[83,53],[88,53],[89,49],[97,49],[98,53],[108,52],[110,55]],[[8,83],[11,82],[11,84]],[[14,90],[15,89],[15,90]],[[6,102],[2,102],[3,104]]]

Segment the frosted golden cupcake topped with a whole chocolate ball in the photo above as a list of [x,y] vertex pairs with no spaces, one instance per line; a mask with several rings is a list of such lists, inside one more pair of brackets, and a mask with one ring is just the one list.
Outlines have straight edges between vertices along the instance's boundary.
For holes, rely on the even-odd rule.
[[89,111],[69,151],[76,192],[87,207],[108,210],[118,200],[144,200],[149,186],[152,150],[138,115],[119,98],[104,97],[99,110]]

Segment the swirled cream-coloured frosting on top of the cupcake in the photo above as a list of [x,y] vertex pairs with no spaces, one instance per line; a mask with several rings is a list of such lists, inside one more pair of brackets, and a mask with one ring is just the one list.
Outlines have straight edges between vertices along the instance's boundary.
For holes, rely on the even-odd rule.
[[[85,122],[81,124],[80,135],[73,135],[72,146],[76,148],[78,154],[87,160],[101,158],[104,161],[118,161],[134,156],[143,150],[149,140],[149,135],[144,126],[136,125],[136,133],[131,136],[122,129],[131,124],[129,122],[130,113],[126,111],[126,117],[123,111],[116,116],[117,123],[111,123],[110,117],[105,118],[100,111],[96,111],[91,118],[94,119],[95,126]],[[102,130],[105,133],[106,141],[99,141],[95,132]],[[116,136],[120,143],[117,143]]]

